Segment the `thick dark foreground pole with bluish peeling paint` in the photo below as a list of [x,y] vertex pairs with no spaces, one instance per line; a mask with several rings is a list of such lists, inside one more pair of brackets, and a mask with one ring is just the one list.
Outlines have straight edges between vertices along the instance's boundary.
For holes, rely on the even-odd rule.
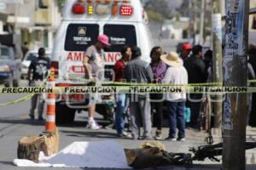
[[[226,0],[224,86],[247,87],[248,0]],[[225,94],[224,170],[245,170],[247,94]]]

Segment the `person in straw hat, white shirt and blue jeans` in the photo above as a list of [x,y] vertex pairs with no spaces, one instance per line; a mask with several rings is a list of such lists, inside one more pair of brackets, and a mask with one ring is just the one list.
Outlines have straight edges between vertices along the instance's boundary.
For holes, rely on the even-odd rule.
[[[169,65],[166,71],[163,83],[187,85],[188,84],[188,72],[183,66],[183,60],[178,57],[176,52],[170,52],[169,54],[161,55],[161,60]],[[166,100],[168,102],[168,121],[169,121],[169,136],[167,140],[175,141],[185,140],[185,120],[184,109],[186,102],[186,93],[172,93],[166,94]],[[178,129],[176,139],[176,128]]]

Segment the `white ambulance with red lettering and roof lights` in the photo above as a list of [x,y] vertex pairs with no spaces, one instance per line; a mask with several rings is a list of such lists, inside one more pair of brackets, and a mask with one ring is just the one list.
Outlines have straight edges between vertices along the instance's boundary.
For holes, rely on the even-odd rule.
[[[120,59],[124,45],[142,49],[142,59],[150,62],[152,38],[148,16],[140,0],[67,0],[61,26],[55,36],[51,65],[55,68],[55,86],[81,86],[84,82],[83,55],[96,42],[98,35],[109,37],[105,50],[105,78],[111,80],[111,68]],[[73,122],[75,112],[84,110],[83,94],[61,94],[56,99],[57,123]],[[104,102],[96,111],[106,113]]]

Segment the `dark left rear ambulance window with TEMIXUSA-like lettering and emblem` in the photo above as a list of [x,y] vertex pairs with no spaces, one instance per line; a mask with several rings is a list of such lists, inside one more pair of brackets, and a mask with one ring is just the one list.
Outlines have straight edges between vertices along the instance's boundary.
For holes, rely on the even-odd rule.
[[70,24],[67,26],[65,50],[85,51],[95,44],[98,35],[99,26],[96,24]]

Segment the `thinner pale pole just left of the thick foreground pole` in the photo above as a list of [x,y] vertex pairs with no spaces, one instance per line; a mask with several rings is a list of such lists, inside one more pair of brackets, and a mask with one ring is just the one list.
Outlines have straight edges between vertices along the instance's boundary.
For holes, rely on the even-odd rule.
[[[223,69],[222,69],[222,10],[223,0],[212,1],[212,77],[213,82],[223,82]],[[220,84],[222,86],[222,84]],[[214,127],[221,127],[222,122],[222,95],[216,95],[215,102],[213,103],[214,112]]]

